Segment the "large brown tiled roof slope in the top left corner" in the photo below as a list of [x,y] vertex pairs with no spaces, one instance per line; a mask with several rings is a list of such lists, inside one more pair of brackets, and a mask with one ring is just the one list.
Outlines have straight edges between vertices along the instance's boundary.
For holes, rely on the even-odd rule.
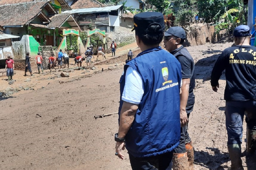
[[[1,2],[2,0],[0,0]],[[0,5],[0,25],[24,25],[37,17],[47,1]]]

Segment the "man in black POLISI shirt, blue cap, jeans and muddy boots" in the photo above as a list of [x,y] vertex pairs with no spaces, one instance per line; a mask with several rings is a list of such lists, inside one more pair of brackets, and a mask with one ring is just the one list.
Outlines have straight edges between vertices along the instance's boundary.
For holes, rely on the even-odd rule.
[[256,139],[256,47],[250,46],[250,28],[239,25],[233,31],[235,46],[225,49],[211,73],[211,86],[217,92],[226,70],[226,129],[231,170],[243,170],[241,143],[246,114],[247,153],[255,151]]

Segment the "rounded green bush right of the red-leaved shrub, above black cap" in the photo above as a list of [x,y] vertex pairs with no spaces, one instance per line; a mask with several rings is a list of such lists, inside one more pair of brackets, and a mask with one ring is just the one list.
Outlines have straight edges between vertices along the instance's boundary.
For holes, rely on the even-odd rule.
[[190,21],[193,17],[194,13],[191,10],[179,10],[176,15],[175,24],[185,29],[190,25]]

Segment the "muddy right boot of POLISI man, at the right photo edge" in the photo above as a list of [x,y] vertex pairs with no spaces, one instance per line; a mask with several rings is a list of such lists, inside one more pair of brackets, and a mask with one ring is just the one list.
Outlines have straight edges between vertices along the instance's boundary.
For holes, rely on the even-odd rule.
[[256,131],[247,128],[247,153],[252,155],[256,150]]

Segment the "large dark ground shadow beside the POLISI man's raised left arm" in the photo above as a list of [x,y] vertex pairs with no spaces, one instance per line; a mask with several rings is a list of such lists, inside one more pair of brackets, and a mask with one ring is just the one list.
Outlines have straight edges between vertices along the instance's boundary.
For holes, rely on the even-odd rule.
[[[219,53],[219,52],[218,52]],[[202,79],[203,82],[211,80],[211,72],[220,54],[202,58],[195,63],[195,78]],[[221,80],[226,80],[225,71],[223,71]]]

